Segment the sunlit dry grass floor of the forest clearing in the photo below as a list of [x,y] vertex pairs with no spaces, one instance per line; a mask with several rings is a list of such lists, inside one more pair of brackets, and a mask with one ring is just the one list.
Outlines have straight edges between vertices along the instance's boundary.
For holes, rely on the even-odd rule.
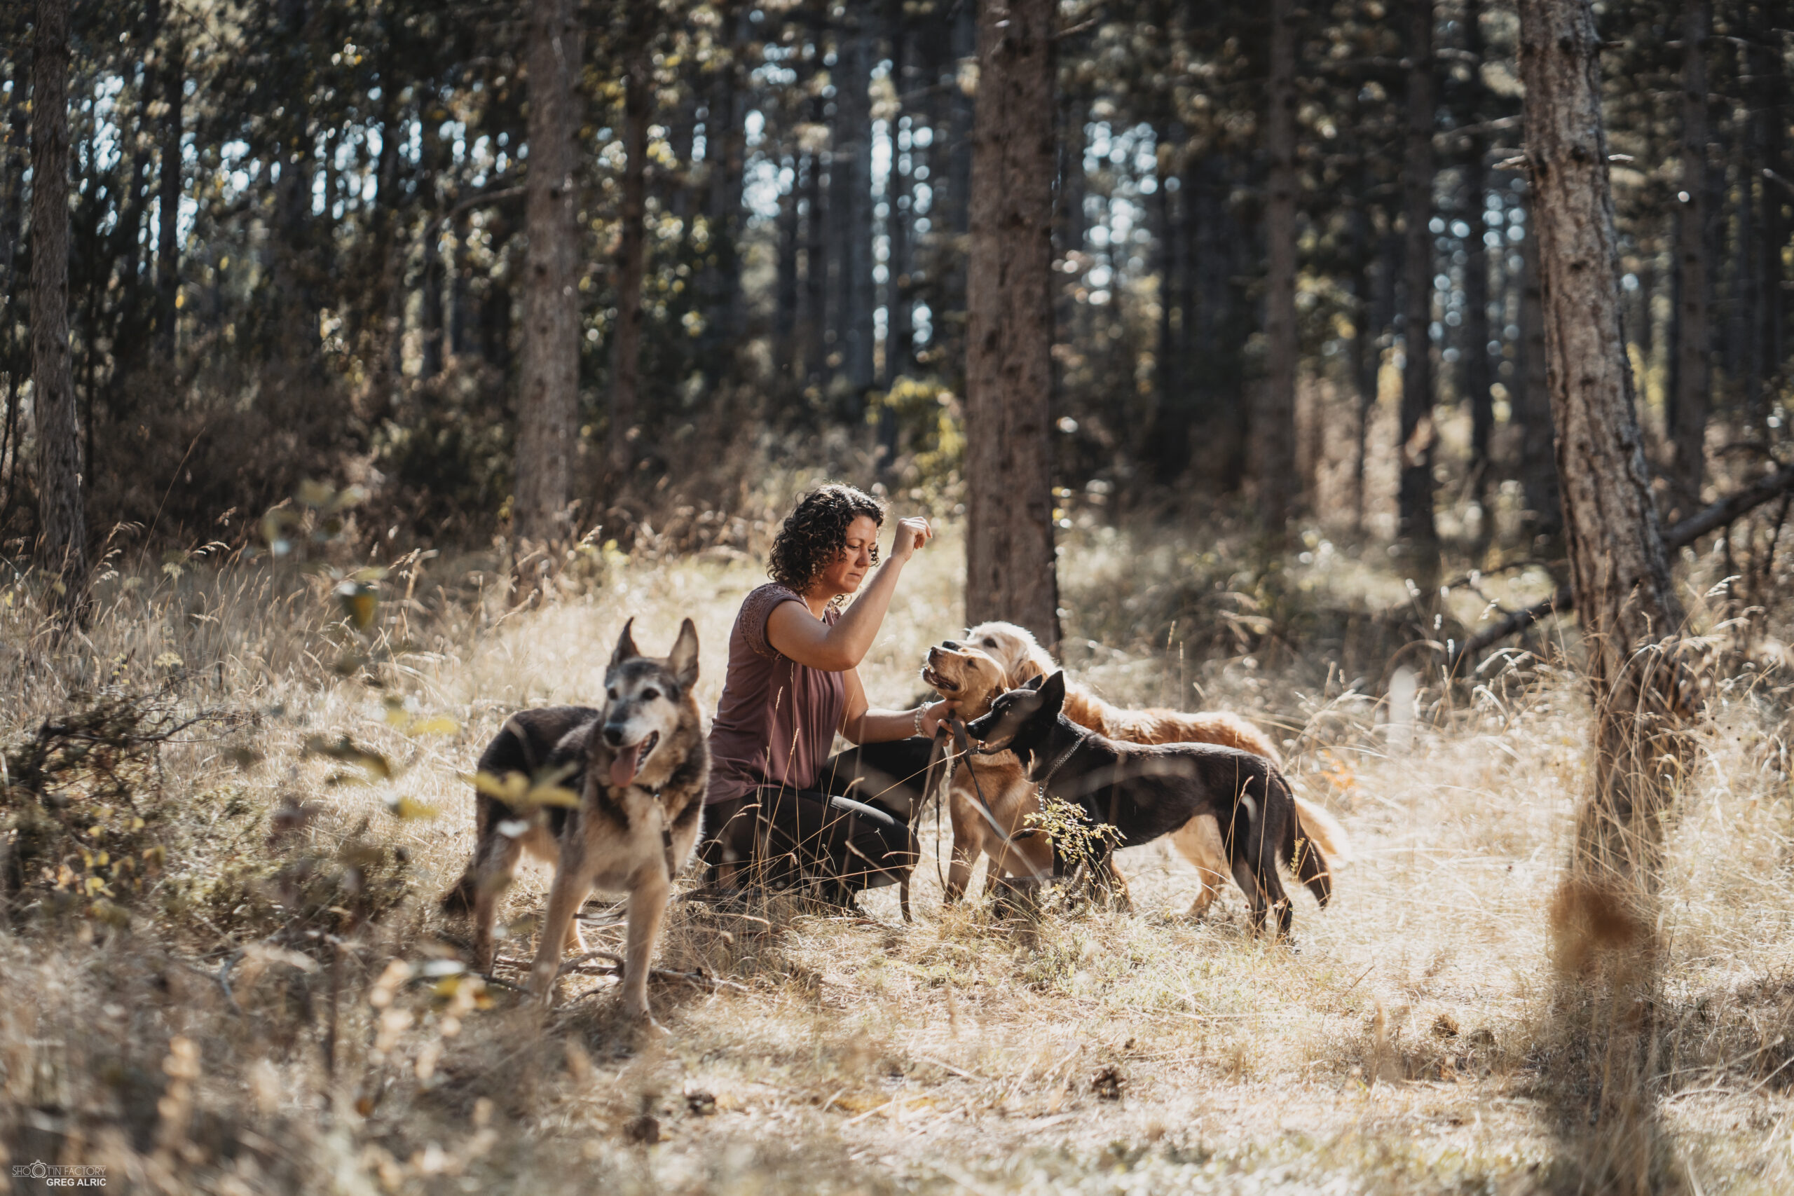
[[[468,857],[466,775],[506,714],[594,699],[631,615],[648,651],[696,619],[712,710],[752,561],[596,554],[578,594],[518,613],[477,561],[411,561],[364,633],[334,576],[187,561],[108,579],[93,628],[54,649],[7,590],[7,850],[48,834],[20,816],[39,784],[63,794],[54,818],[93,809],[95,843],[113,805],[147,816],[117,834],[154,843],[118,843],[161,866],[135,897],[81,843],[66,875],[14,870],[0,1164],[226,1194],[1577,1191],[1604,1144],[1600,1062],[1561,1022],[1550,963],[1586,782],[1573,672],[1516,656],[1424,689],[1412,728],[1390,728],[1299,651],[1197,662],[1175,633],[1141,642],[1157,624],[1128,597],[1182,585],[1204,550],[1071,536],[1067,653],[1116,701],[1276,728],[1356,846],[1329,909],[1297,893],[1299,950],[1247,934],[1236,891],[1186,920],[1195,875],[1164,845],[1121,852],[1132,913],[1032,922],[944,909],[926,859],[911,925],[895,889],[858,918],[675,906],[660,966],[728,983],[651,984],[660,1040],[624,1026],[610,979],[570,977],[544,1018],[456,974],[438,934],[465,929],[434,898]],[[1297,592],[1403,597],[1331,545],[1310,558]],[[951,531],[911,565],[863,667],[875,703],[922,692],[922,649],[962,626],[960,570]],[[147,764],[95,732],[111,755],[22,776],[39,726],[93,708],[81,692],[124,703],[106,726],[127,706],[210,717]],[[1787,710],[1774,669],[1715,689],[1668,836],[1652,1058],[1668,1191],[1794,1191]],[[504,954],[529,954],[545,882],[520,875]]]

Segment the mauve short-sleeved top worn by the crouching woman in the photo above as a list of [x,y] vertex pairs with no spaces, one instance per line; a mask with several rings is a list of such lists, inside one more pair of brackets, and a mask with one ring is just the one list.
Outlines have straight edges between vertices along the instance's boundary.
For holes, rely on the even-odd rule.
[[[802,602],[791,588],[752,592],[728,633],[728,674],[710,723],[710,787],[703,803],[732,802],[766,782],[814,789],[834,732],[847,712],[847,680],[800,665],[766,638],[766,619],[782,602]],[[806,613],[807,608],[806,608]],[[822,620],[834,624],[831,608]]]

